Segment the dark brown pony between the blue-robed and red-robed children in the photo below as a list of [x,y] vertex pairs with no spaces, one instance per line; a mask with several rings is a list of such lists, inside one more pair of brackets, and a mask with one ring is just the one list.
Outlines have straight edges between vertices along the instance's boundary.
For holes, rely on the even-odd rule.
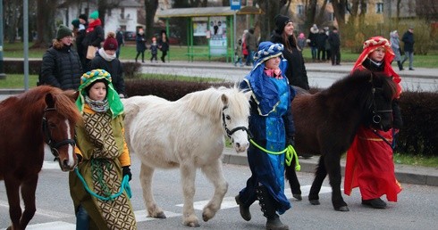
[[[292,101],[295,149],[297,152],[321,155],[308,195],[311,204],[319,204],[319,191],[328,174],[333,190],[333,208],[349,210],[341,196],[341,154],[349,149],[359,126],[384,131],[392,127],[395,90],[391,78],[361,70],[316,94],[298,92]],[[301,200],[299,181],[293,167],[286,167],[286,178],[293,196]]]

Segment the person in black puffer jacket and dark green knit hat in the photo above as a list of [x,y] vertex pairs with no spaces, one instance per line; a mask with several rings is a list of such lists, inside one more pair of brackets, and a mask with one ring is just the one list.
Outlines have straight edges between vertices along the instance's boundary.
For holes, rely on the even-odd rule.
[[78,90],[82,65],[79,54],[72,49],[72,41],[72,29],[61,25],[56,31],[52,46],[43,55],[38,86]]

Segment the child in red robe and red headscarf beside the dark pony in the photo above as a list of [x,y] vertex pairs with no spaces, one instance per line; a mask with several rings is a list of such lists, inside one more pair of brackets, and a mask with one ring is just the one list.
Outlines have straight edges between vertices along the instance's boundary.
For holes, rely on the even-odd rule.
[[[391,62],[394,53],[391,43],[384,37],[371,37],[364,43],[364,51],[358,57],[354,70],[371,70],[388,75],[397,86],[397,93],[392,103],[393,128],[398,130],[402,121],[400,107],[397,103],[401,93],[400,76],[392,70]],[[384,132],[375,130],[389,143],[392,143],[394,130]],[[347,152],[345,168],[344,193],[350,195],[351,190],[359,187],[362,204],[375,209],[386,208],[380,198],[386,195],[388,201],[397,201],[401,191],[400,183],[395,178],[392,161],[392,146],[377,136],[371,127],[359,127],[358,132]]]

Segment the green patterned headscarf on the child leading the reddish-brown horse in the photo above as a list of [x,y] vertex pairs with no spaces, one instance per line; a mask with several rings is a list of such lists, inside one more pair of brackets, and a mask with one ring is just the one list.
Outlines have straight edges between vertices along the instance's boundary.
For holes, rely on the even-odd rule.
[[123,104],[120,101],[119,94],[114,89],[113,84],[111,83],[112,78],[111,74],[105,70],[90,70],[80,77],[80,86],[78,91],[80,95],[78,99],[76,99],[76,106],[80,110],[80,113],[84,110],[85,104],[85,96],[87,95],[88,86],[94,84],[97,80],[105,79],[108,87],[106,88],[106,99],[108,100],[110,111],[113,115],[113,118],[123,113]]

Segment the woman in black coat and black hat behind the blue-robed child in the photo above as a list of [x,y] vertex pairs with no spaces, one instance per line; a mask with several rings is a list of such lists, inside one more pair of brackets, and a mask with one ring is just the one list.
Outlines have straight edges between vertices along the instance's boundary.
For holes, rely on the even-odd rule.
[[287,16],[277,15],[274,19],[277,29],[273,31],[271,42],[284,45],[282,52],[288,61],[286,77],[291,86],[299,86],[308,90],[307,70],[304,58],[297,45],[297,38],[293,34],[293,21]]

